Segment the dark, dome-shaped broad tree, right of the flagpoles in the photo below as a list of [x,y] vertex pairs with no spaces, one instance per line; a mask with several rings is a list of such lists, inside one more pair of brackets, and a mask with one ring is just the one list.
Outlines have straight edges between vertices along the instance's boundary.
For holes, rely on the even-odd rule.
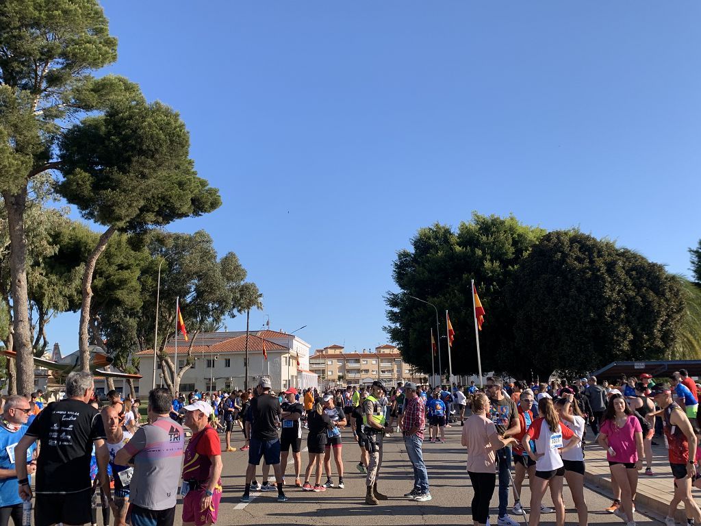
[[541,380],[669,358],[684,312],[679,281],[662,265],[577,230],[543,236],[506,300],[515,313],[508,369]]

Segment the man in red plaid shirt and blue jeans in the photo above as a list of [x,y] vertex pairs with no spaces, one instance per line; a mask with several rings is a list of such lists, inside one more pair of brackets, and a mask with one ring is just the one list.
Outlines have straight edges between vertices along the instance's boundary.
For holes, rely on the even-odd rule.
[[411,466],[414,468],[414,489],[404,494],[411,500],[425,502],[430,501],[428,492],[428,473],[423,462],[421,445],[423,445],[423,429],[426,427],[426,407],[423,399],[416,394],[416,384],[407,382],[404,385],[404,419],[402,430],[404,431],[404,446],[407,447]]

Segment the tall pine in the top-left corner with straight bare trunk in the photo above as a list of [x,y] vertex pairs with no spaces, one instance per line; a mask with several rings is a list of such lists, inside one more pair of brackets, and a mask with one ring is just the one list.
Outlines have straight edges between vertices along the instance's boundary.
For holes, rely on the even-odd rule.
[[57,141],[86,112],[132,100],[133,85],[91,72],[116,60],[97,0],[5,0],[0,8],[0,194],[11,241],[13,349],[18,388],[34,389],[27,296],[28,185],[60,170]]

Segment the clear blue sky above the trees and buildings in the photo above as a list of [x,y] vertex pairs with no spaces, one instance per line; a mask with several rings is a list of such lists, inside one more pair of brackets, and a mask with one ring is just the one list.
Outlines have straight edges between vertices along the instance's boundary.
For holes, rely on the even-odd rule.
[[[206,229],[312,348],[387,341],[416,230],[578,226],[688,274],[701,237],[695,1],[105,0],[109,71],[177,109]],[[245,318],[228,323],[245,328]],[[77,348],[77,315],[50,339]]]

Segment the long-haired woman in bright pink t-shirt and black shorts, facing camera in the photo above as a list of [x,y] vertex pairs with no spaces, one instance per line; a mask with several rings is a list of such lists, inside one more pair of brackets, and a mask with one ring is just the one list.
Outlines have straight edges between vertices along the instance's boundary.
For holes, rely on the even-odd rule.
[[611,477],[620,487],[621,507],[613,514],[635,526],[633,501],[638,471],[643,468],[643,429],[620,393],[608,402],[598,441],[606,450]]

